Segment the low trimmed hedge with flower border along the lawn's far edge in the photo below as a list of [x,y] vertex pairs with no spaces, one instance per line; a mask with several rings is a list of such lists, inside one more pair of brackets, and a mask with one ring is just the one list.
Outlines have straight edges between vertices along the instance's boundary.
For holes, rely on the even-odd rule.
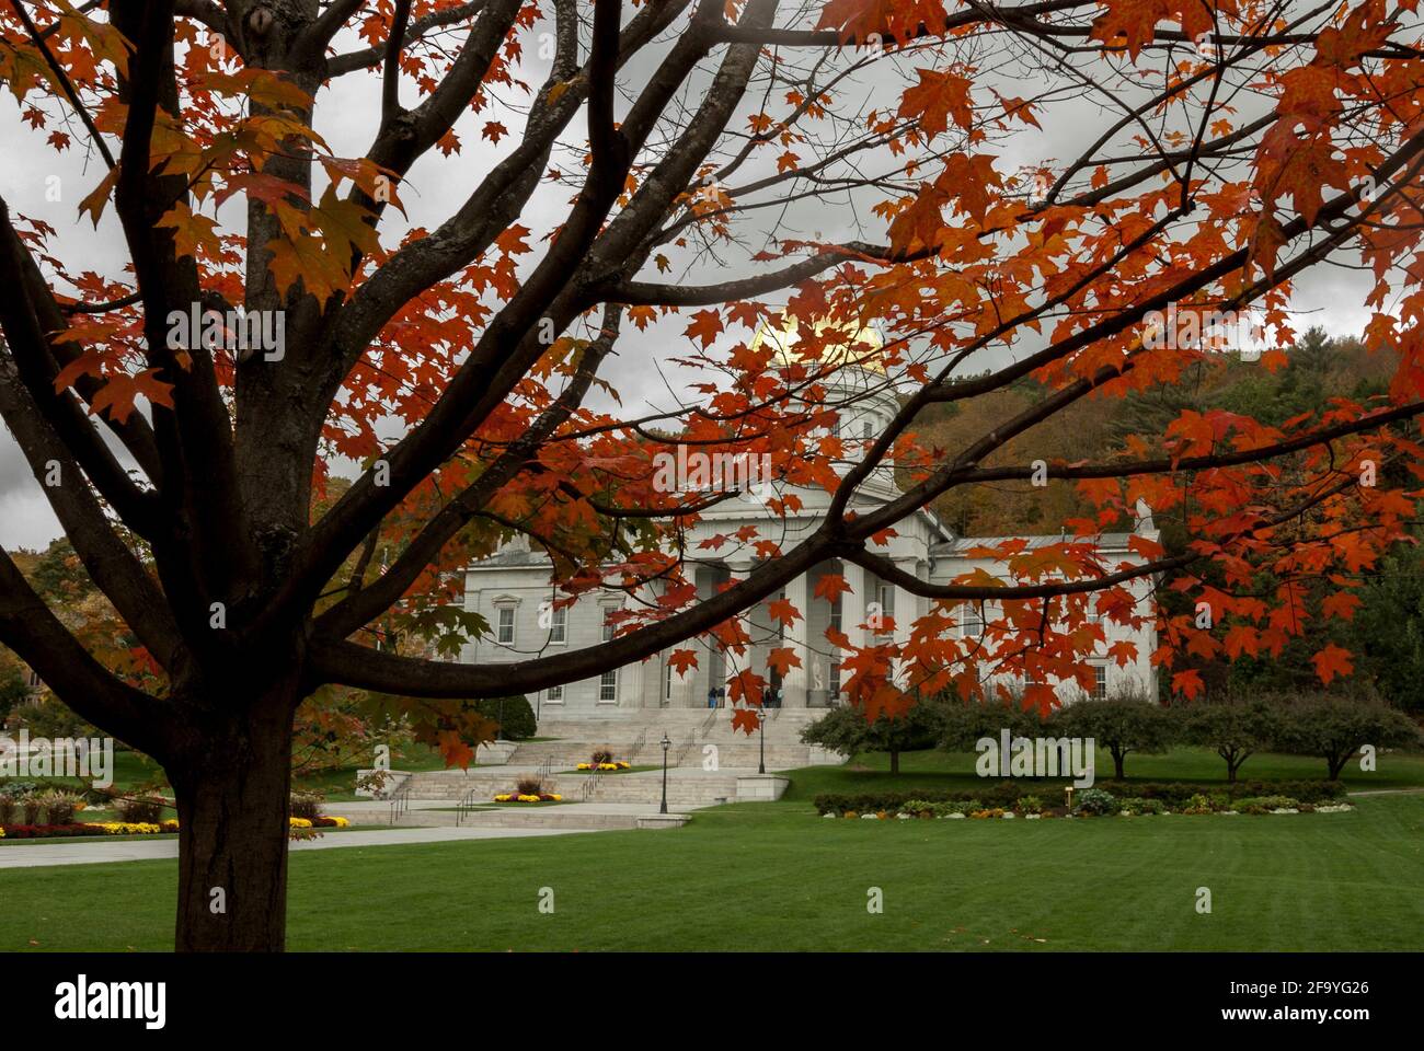
[[[927,790],[914,789],[911,792],[867,792],[843,793],[823,792],[816,796],[817,813],[876,813],[879,810],[899,810],[910,802],[926,803],[967,803],[981,800],[987,805],[1014,806],[1032,782],[1022,778],[985,780],[973,789],[960,790]],[[1049,806],[1058,802],[1062,789],[1051,789],[1034,785],[1041,799]],[[1112,782],[1102,780],[1094,788],[1105,789],[1118,798],[1129,799],[1159,799],[1168,806],[1182,806],[1192,796],[1222,793],[1232,799],[1246,799],[1250,796],[1290,796],[1302,803],[1329,803],[1344,796],[1344,785],[1337,780],[1243,780],[1236,785],[1192,783],[1192,782]],[[1057,795],[1055,795],[1057,793]],[[1045,798],[1047,796],[1047,798]]]

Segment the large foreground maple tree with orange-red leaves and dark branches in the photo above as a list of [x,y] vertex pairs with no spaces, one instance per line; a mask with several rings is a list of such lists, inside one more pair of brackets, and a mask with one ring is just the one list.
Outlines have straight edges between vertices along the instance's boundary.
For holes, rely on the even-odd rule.
[[[904,711],[906,681],[975,695],[985,659],[1051,706],[1042,684],[1087,681],[1092,612],[1152,615],[1129,592],[1152,574],[1192,600],[1161,615],[1152,654],[1186,696],[1202,691],[1186,658],[1279,654],[1310,617],[1349,618],[1349,602],[1312,608],[1306,584],[1357,587],[1413,517],[1398,477],[1424,471],[1408,426],[1424,409],[1414,14],[1414,0],[0,6],[24,148],[90,151],[80,208],[117,216],[128,263],[83,269],[56,226],[0,202],[0,416],[134,645],[91,652],[9,557],[0,641],[168,772],[178,947],[282,947],[293,713],[328,685],[422,698],[429,732],[467,760],[486,725],[471,698],[679,645],[688,668],[696,637],[743,657],[746,611],[772,598],[763,621],[805,618],[775,597],[829,560],[930,600],[894,639],[827,634],[869,719]],[[380,93],[360,155],[343,157],[318,115],[352,75]],[[1077,155],[1005,160],[1065,121]],[[468,161],[443,167],[463,151],[473,178]],[[453,198],[444,218],[402,229],[402,197],[433,181]],[[786,225],[797,206],[847,235]],[[849,235],[866,228],[879,239]],[[1162,312],[1255,310],[1272,333],[1260,365],[1279,367],[1293,282],[1341,258],[1373,282],[1360,336],[1393,359],[1386,394],[1279,426],[1186,407],[1111,456],[1038,450],[1091,513],[1061,544],[984,551],[1012,584],[930,584],[877,553],[951,490],[1030,479],[1034,463],[990,457],[1037,424],[1212,367],[1210,339],[1161,339]],[[803,322],[796,360],[752,339],[783,316]],[[699,376],[692,396],[601,407],[617,406],[611,356],[651,355],[632,329],[668,325],[685,325],[669,363]],[[883,346],[847,349],[859,325]],[[833,380],[871,356],[899,410],[840,437]],[[994,400],[1027,377],[1047,393]],[[1002,406],[978,434],[917,437],[931,407],[975,399]],[[785,548],[746,527],[689,551],[689,524],[728,494],[654,484],[678,443],[769,457],[772,516],[820,490],[822,524]],[[359,477],[315,500],[336,457]],[[857,504],[884,464],[899,496]],[[1094,535],[1139,500],[1183,543],[1136,537],[1135,560],[1105,564]],[[605,645],[513,664],[377,645],[481,631],[440,601],[449,572],[515,535],[550,553],[561,601],[651,598]],[[755,567],[699,600],[685,570],[732,550]],[[816,601],[846,587],[823,577]],[[960,604],[983,600],[995,617],[961,638]],[[763,672],[796,659],[778,648],[733,669],[740,725],[758,722]],[[1350,657],[1327,647],[1316,665],[1331,679]]]

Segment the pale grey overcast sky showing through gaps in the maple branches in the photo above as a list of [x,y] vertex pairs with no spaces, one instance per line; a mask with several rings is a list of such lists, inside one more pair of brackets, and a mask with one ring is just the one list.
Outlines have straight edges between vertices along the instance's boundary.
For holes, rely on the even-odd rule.
[[[537,30],[535,30],[537,33]],[[340,47],[337,50],[347,50]],[[641,84],[646,75],[656,51],[641,57],[629,64],[624,71],[624,81]],[[713,54],[715,58],[721,53]],[[524,78],[537,87],[545,77],[548,63],[538,57],[537,37],[525,43]],[[911,63],[913,64],[913,63]],[[923,60],[921,60],[921,64]],[[837,93],[837,105],[847,108],[873,108],[877,104],[876,77],[880,74],[862,77]],[[887,80],[896,80],[900,74],[886,70]],[[1027,77],[1024,68],[1002,66],[998,71],[998,87],[1007,95],[1031,97],[1042,90],[1041,83],[1017,81],[1017,75]],[[409,104],[414,93],[407,81],[404,85],[404,101]],[[463,151],[450,158],[436,152],[422,160],[412,171],[409,181],[402,188],[402,199],[409,214],[409,222],[417,226],[433,229],[450,215],[459,202],[476,185],[476,181],[500,157],[513,150],[518,135],[518,113],[515,108],[500,110],[500,101],[523,104],[520,93],[498,88],[496,107],[484,114],[467,114],[456,131],[463,142]],[[897,94],[897,93],[896,93]],[[879,93],[879,104],[886,105],[886,93]],[[896,95],[890,95],[893,100]],[[698,100],[691,98],[695,104]],[[759,108],[752,105],[748,113]],[[328,144],[337,155],[355,157],[365,152],[373,134],[376,115],[379,114],[379,78],[375,74],[350,74],[339,78],[335,87],[319,95],[318,100],[318,130],[325,135]],[[1067,160],[1074,155],[1089,137],[1095,138],[1105,117],[1099,105],[1089,101],[1071,101],[1052,110],[1054,120],[1044,121],[1044,130],[1027,131],[1015,140],[997,148],[1001,171],[1011,172],[1022,164],[1038,164],[1049,158]],[[500,120],[510,130],[511,135],[503,138],[498,145],[481,138],[480,130],[487,120]],[[736,124],[733,122],[733,127]],[[581,140],[582,122],[575,121],[571,127],[574,138]],[[20,122],[20,108],[13,95],[6,93],[0,97],[0,145],[3,145],[4,165],[0,169],[0,194],[16,214],[40,218],[58,231],[57,239],[51,244],[51,251],[63,253],[63,258],[74,271],[94,269],[107,276],[118,278],[127,263],[122,235],[114,218],[112,208],[105,212],[104,219],[95,231],[87,218],[77,215],[78,201],[93,189],[103,171],[95,158],[87,158],[81,148],[73,147],[68,152],[56,155],[43,144],[44,134],[37,134]],[[83,141],[83,131],[71,128],[75,142]],[[581,142],[577,144],[581,150]],[[770,158],[766,161],[770,162]],[[60,201],[46,199],[47,179],[57,175],[60,178]],[[570,191],[565,187],[544,187],[533,199],[530,208],[521,216],[521,222],[535,231],[530,244],[541,248],[538,236],[547,231],[567,212]],[[862,208],[852,209],[833,208],[826,204],[809,204],[793,208],[782,218],[782,235],[789,236],[823,236],[827,239],[867,238],[881,239],[884,231],[857,225],[857,215],[867,215]],[[228,229],[235,219],[235,205],[229,204],[222,218]],[[394,244],[403,228],[399,215],[389,215],[383,222],[386,234],[383,242]],[[750,251],[756,251],[753,245]],[[528,256],[537,258],[537,256]],[[740,271],[739,271],[740,272]],[[679,273],[681,279],[712,281],[736,276],[736,273],[716,273],[702,265],[695,273]],[[1331,333],[1358,333],[1368,319],[1368,310],[1363,305],[1368,288],[1367,276],[1343,268],[1316,268],[1297,282],[1293,306],[1302,312],[1296,328],[1306,325],[1321,325]],[[679,369],[669,359],[685,353],[688,343],[682,329],[686,318],[674,318],[654,325],[645,333],[639,333],[629,325],[624,326],[625,335],[619,339],[618,355],[602,369],[602,376],[619,392],[624,410],[638,414],[649,409],[666,410],[681,397],[684,385],[692,376],[688,370]],[[732,343],[745,338],[745,333],[726,336]],[[1001,362],[980,362],[978,367],[997,365]],[[392,429],[394,433],[394,429]],[[0,544],[7,548],[44,547],[60,534],[58,524],[46,503],[38,484],[28,466],[24,463],[9,432],[0,427]]]

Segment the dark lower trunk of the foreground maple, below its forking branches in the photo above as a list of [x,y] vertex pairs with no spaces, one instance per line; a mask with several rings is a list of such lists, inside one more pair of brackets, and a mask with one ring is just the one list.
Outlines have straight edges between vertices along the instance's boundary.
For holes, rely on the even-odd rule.
[[168,770],[178,802],[179,953],[278,953],[286,940],[289,692],[235,708]]

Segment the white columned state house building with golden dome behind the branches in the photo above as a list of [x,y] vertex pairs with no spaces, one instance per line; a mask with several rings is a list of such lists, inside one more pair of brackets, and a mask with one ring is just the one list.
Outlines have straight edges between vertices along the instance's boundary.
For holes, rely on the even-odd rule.
[[[756,339],[776,339],[779,356],[782,360],[789,360],[787,347],[795,342],[795,328],[768,333],[769,330],[763,329]],[[854,339],[864,342],[869,350],[879,346],[880,338],[871,329],[863,329]],[[884,375],[877,369],[847,363],[837,369],[833,379],[834,382],[826,383],[827,402],[840,403],[842,399],[836,397],[839,389],[849,406],[840,413],[842,437],[870,439],[880,434],[899,409],[893,393],[879,389],[887,386]],[[863,385],[859,390],[857,383]],[[796,487],[792,491],[800,497],[802,507],[796,513],[787,511],[785,518],[768,511],[760,500],[726,500],[709,507],[701,513],[701,520],[689,527],[686,550],[695,551],[699,541],[718,534],[729,535],[742,526],[756,526],[762,535],[775,537],[783,550],[790,550],[820,526],[830,501],[830,496],[819,488]],[[883,467],[860,486],[850,508],[863,508],[864,513],[897,494],[891,469]],[[899,523],[896,531],[899,535],[891,537],[887,547],[877,547],[876,553],[920,580],[950,584],[956,577],[975,568],[1002,577],[1001,563],[995,558],[974,557],[970,551],[993,547],[1008,540],[1007,537],[957,537],[924,508],[913,518]],[[1134,533],[1146,540],[1158,540],[1151,514],[1142,506]],[[1104,533],[1096,537],[1095,544],[1104,563],[1108,565],[1141,563],[1142,557],[1129,550],[1132,535],[1132,533]],[[1057,544],[1062,537],[1021,540],[1032,547]],[[749,555],[718,558],[713,553],[705,561],[685,567],[685,572],[695,581],[701,597],[711,597],[728,580],[748,574],[752,565]],[[850,587],[834,605],[824,598],[815,598],[816,582],[824,574],[842,575]],[[1151,664],[1151,655],[1156,649],[1151,607],[1155,582],[1152,577],[1141,577],[1125,587],[1136,597],[1142,627],[1134,628],[1112,618],[1095,617],[1106,639],[1099,647],[1099,655],[1089,658],[1095,672],[1092,692],[1102,696],[1109,692],[1132,691],[1155,698],[1156,669]],[[464,608],[480,614],[490,625],[490,634],[467,641],[460,659],[497,664],[550,655],[565,647],[597,647],[612,637],[614,625],[608,619],[609,614],[625,604],[632,604],[622,591],[609,590],[585,592],[572,605],[553,610],[554,597],[550,558],[540,550],[531,550],[527,538],[520,537],[491,557],[471,564],[464,578]],[[802,619],[796,619],[792,627],[780,624],[773,627],[766,617],[765,604],[750,610],[745,618],[749,619],[748,631],[758,645],[745,657],[735,658],[736,666],[729,665],[732,658],[721,654],[713,642],[692,639],[601,676],[540,691],[537,696],[528,698],[530,704],[535,706],[541,721],[617,718],[622,712],[708,708],[713,702],[721,706],[726,704],[725,688],[729,675],[750,666],[770,679],[783,708],[827,708],[840,702],[842,672],[837,662],[839,651],[826,641],[826,629],[843,631],[853,645],[864,645],[866,629],[859,625],[867,624],[867,604],[877,602],[879,610],[893,618],[896,635],[903,641],[909,638],[910,625],[928,612],[933,601],[881,581],[859,565],[842,561],[817,565],[807,575],[792,581],[785,588],[783,597],[796,607]],[[1094,608],[1094,601],[1089,601],[1089,610]],[[963,635],[980,634],[984,619],[997,618],[993,602],[987,602],[985,607],[988,608],[983,611],[977,605],[964,607],[957,618],[956,631]],[[1106,657],[1108,647],[1119,641],[1136,647],[1135,658],[1126,665],[1119,665]],[[800,657],[800,666],[790,668],[785,679],[778,682],[766,669],[766,654],[779,647],[793,647]],[[696,651],[698,666],[679,675],[669,658],[674,649],[688,648]],[[991,678],[988,668],[981,669],[981,678]],[[1071,704],[1085,694],[1077,681],[1054,685],[1064,704]]]

